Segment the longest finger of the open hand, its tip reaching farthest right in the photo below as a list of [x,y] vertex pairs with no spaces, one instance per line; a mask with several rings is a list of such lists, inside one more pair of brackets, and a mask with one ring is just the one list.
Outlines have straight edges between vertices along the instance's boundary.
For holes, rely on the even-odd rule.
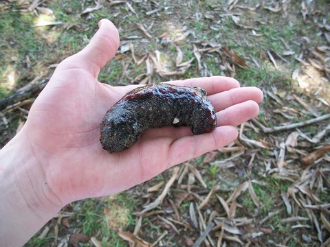
[[214,110],[218,112],[235,104],[239,104],[248,100],[253,100],[256,103],[263,101],[263,92],[254,87],[243,87],[238,89],[231,89],[208,97]]

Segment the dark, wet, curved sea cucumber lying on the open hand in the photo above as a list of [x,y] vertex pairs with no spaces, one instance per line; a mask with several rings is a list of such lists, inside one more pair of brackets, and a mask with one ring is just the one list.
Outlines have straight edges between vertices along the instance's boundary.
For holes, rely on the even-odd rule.
[[194,134],[202,134],[216,125],[217,117],[205,90],[148,84],[127,93],[107,111],[100,124],[100,142],[110,153],[121,152],[148,128],[189,126]]

